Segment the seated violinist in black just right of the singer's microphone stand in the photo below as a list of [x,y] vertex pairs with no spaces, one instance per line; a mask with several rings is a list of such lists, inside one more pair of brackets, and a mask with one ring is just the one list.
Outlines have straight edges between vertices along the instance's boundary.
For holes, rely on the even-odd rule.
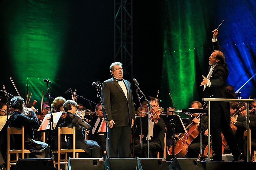
[[[154,122],[154,129],[153,129],[153,136],[151,137],[151,140],[149,141],[149,157],[153,158],[154,152],[162,152],[164,150],[164,138],[165,138],[165,122],[163,119],[159,119],[159,103],[158,101],[152,100],[151,105],[155,106],[154,114],[152,121]],[[153,112],[153,109],[151,108],[151,112]],[[145,137],[144,137],[145,139]],[[143,141],[143,157],[147,158],[147,142],[146,140]],[[134,156],[141,157],[141,144],[138,144],[134,146]]]

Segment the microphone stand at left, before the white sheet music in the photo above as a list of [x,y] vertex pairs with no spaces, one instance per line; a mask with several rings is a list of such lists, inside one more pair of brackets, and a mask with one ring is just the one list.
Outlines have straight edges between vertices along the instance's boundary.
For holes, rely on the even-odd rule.
[[[49,130],[50,130],[50,132],[49,132],[49,147],[50,147],[50,150],[49,150],[49,157],[51,156],[51,150],[52,150],[52,140],[53,140],[53,135],[54,135],[54,131],[53,131],[53,112],[52,112],[52,105],[51,105],[51,95],[50,95],[50,93],[49,93],[49,86],[48,86],[48,84],[49,84],[49,82],[47,81],[46,82],[46,85],[47,85],[47,96],[49,96],[49,98],[48,98],[48,101],[49,101],[49,108],[50,108],[50,114],[51,114],[51,117],[48,119],[48,120],[50,120],[49,121]],[[51,82],[51,87],[52,87],[52,82]],[[50,88],[51,88],[50,87]]]

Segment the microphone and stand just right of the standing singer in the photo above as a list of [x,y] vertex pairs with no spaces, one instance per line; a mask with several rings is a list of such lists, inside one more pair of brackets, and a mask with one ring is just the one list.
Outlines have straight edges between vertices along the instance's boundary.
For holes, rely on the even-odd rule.
[[[137,89],[138,89],[137,95],[138,95],[139,101],[140,101],[140,99],[142,99],[144,97],[147,102],[147,158],[149,158],[149,123],[150,123],[150,107],[152,107],[152,106],[150,104],[150,101],[147,100],[146,96],[141,91],[139,83],[136,82],[135,85],[137,86]],[[143,95],[142,97],[139,96],[139,92]],[[140,119],[141,119],[141,117],[140,117]],[[141,123],[141,120],[140,120],[140,123]],[[142,127],[141,127],[141,134],[142,134]],[[142,135],[141,135],[141,137],[142,137]],[[142,140],[141,140],[141,147],[142,147]],[[142,154],[142,149],[141,149],[141,154]]]

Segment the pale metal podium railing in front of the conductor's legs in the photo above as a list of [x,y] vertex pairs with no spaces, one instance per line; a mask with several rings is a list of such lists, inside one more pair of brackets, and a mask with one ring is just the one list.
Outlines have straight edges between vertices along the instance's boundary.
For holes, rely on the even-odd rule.
[[247,162],[250,162],[250,142],[249,142],[249,102],[254,102],[253,99],[220,99],[220,98],[203,98],[203,101],[208,102],[208,161],[211,162],[211,102],[246,102],[246,156],[247,156]]

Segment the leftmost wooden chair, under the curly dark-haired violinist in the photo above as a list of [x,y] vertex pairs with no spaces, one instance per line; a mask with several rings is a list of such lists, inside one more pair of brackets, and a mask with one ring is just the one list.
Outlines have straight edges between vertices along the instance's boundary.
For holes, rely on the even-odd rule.
[[[10,135],[13,134],[22,134],[22,149],[13,149],[10,150]],[[22,155],[22,159],[25,157],[25,153],[31,153],[29,150],[25,149],[25,142],[24,142],[24,126],[22,129],[12,127],[7,128],[7,169],[10,170],[12,165],[16,165],[16,162],[19,158],[19,153]],[[10,160],[10,155],[16,154],[16,160]],[[15,163],[13,163],[15,162]]]

